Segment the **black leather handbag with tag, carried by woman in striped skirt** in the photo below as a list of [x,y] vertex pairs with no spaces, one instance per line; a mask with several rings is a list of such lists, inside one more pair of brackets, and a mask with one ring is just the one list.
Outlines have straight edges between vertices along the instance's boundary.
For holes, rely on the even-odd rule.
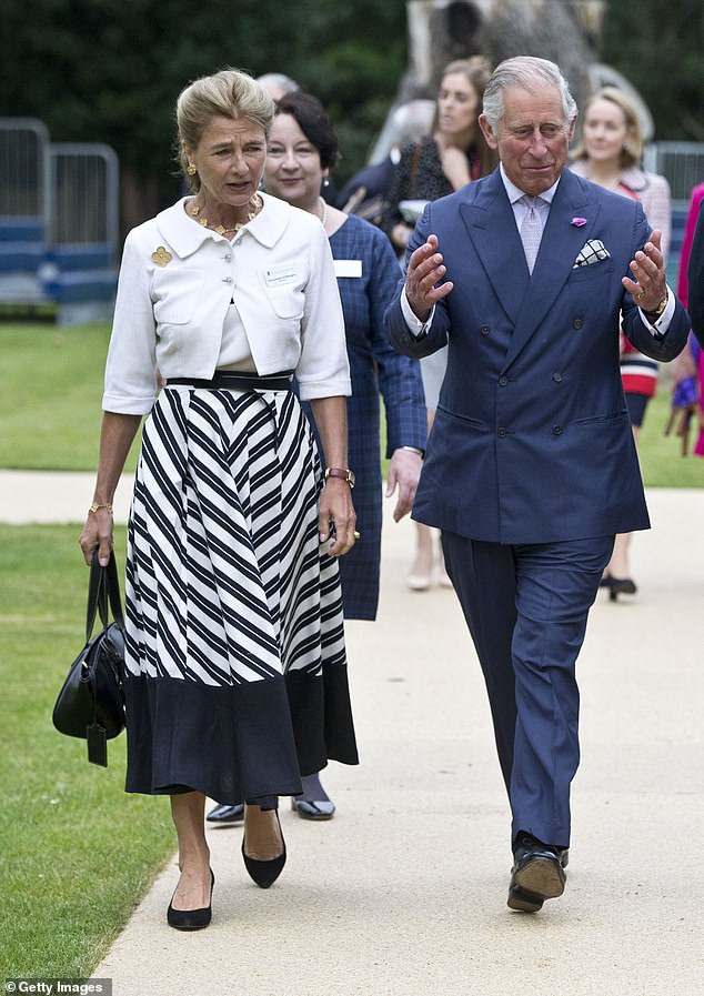
[[[108,615],[112,613],[112,622]],[[95,616],[102,630],[93,636]],[[124,618],[114,554],[107,567],[93,553],[88,585],[86,646],[71,664],[53,707],[59,733],[88,741],[91,764],[108,766],[108,741],[124,730]]]

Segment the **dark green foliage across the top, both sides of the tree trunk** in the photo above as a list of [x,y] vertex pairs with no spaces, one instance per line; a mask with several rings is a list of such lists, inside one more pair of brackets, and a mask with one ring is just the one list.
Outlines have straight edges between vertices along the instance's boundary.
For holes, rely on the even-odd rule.
[[[103,141],[123,174],[177,195],[173,107],[225,66],[279,71],[321,98],[340,132],[339,187],[364,162],[406,69],[402,0],[3,0],[0,113],[37,117],[53,141]],[[9,43],[11,39],[11,43]],[[657,137],[704,140],[701,0],[612,0],[603,61],[641,90]]]

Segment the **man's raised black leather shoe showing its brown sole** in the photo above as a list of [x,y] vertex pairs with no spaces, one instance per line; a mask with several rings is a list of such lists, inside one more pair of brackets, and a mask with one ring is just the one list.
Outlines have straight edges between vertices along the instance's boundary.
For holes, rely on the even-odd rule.
[[509,885],[509,907],[537,913],[545,899],[555,899],[565,891],[565,867],[570,852],[519,834],[513,852]]

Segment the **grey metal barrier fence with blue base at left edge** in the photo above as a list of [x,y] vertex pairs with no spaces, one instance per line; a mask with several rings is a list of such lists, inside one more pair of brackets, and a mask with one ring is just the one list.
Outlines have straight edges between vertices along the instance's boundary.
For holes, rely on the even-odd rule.
[[119,165],[101,143],[52,144],[33,118],[0,118],[0,318],[109,316]]

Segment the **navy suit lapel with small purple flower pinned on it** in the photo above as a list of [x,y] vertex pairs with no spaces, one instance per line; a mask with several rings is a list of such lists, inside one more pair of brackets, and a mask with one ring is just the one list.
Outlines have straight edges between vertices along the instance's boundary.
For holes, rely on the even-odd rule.
[[[586,184],[570,170],[564,170],[550,208],[535,266],[521,301],[504,370],[515,360],[554,304],[580,250],[592,235],[599,212],[600,207],[590,199]],[[573,220],[580,217],[586,223],[573,224]]]

